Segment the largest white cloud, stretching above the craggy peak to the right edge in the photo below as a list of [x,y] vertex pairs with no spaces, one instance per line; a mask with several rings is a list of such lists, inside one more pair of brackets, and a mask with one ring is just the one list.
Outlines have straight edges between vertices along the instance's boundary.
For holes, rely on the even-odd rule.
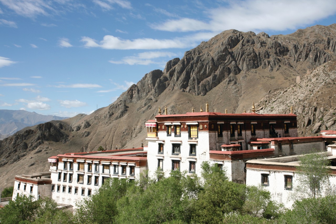
[[[209,21],[181,18],[168,20],[151,27],[163,31],[200,31],[221,32],[237,29],[240,31],[281,31],[296,29],[326,18],[336,12],[333,0],[315,1],[268,1],[237,0],[225,1],[227,6],[205,10]],[[284,16],[284,10],[286,16]]]

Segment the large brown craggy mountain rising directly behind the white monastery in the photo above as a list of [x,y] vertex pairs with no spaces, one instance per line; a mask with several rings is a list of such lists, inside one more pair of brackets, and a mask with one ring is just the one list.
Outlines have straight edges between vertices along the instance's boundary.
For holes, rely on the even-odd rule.
[[[304,80],[307,70],[320,70],[335,60],[335,36],[336,24],[271,37],[263,32],[224,31],[186,51],[182,59],[167,62],[163,71],[145,74],[107,107],[24,128],[0,141],[0,183],[9,186],[15,174],[49,169],[51,155],[93,151],[100,145],[108,149],[146,145],[144,122],[154,118],[159,106],[162,110],[167,106],[168,114],[191,112],[192,107],[198,111],[206,102],[215,112],[249,110],[252,101],[268,99],[267,95],[296,83],[298,76]],[[261,101],[259,107],[272,109],[267,102],[263,107]],[[288,103],[283,110],[288,113],[289,107]],[[302,134],[309,135],[309,130]]]

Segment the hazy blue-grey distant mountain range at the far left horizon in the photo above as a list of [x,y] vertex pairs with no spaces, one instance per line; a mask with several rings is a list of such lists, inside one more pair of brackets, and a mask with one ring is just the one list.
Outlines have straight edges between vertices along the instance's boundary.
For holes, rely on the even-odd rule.
[[42,115],[25,110],[0,110],[0,140],[13,135],[24,127],[66,118],[68,117]]

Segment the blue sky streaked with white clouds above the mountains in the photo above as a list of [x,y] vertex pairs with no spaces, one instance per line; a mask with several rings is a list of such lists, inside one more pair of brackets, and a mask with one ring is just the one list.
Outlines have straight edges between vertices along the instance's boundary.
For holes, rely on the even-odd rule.
[[334,0],[0,0],[0,109],[89,114],[224,30],[335,19]]

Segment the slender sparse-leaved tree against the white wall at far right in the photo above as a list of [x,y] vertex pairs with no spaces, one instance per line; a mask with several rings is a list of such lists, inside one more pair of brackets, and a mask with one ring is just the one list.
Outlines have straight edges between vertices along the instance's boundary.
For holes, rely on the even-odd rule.
[[324,153],[310,153],[300,157],[300,166],[296,169],[298,184],[294,188],[295,198],[321,196],[330,187],[330,161]]

